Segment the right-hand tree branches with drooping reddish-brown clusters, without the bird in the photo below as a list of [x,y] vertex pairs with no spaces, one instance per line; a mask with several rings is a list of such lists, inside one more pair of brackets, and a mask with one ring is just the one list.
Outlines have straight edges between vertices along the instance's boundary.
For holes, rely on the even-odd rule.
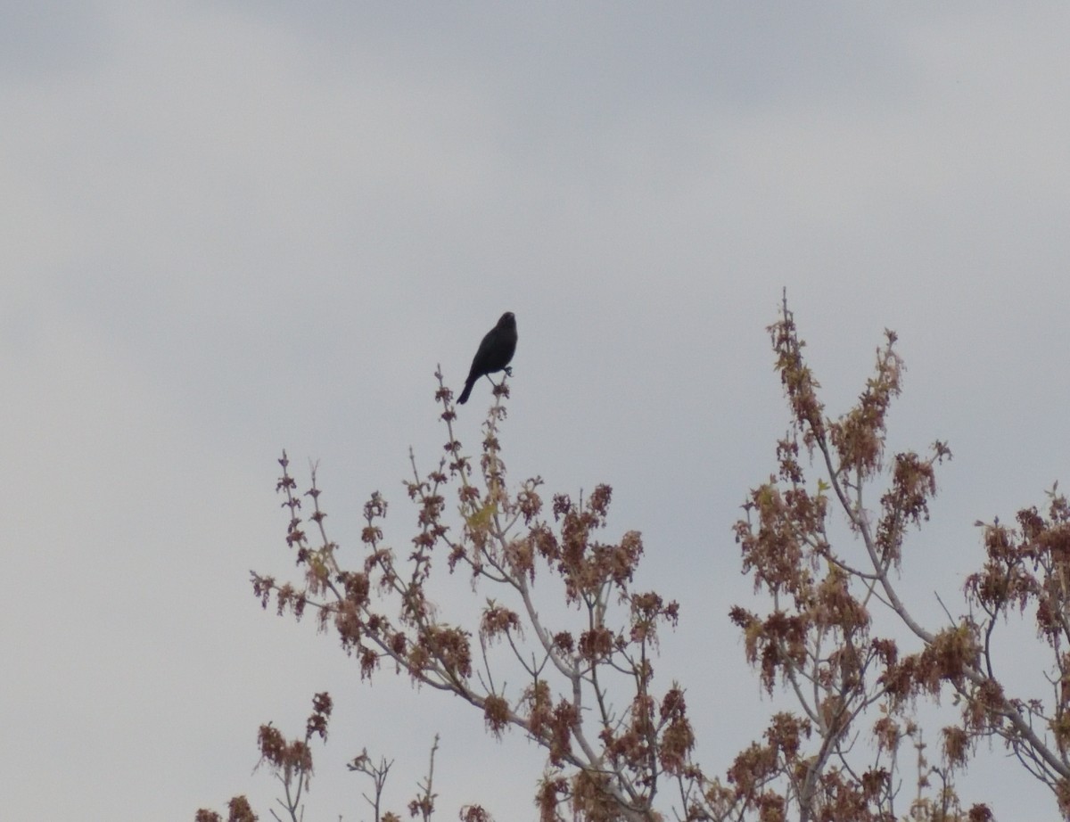
[[[936,492],[935,468],[951,452],[935,442],[928,456],[895,454],[885,465],[886,416],[899,395],[902,360],[896,335],[886,332],[877,350],[875,375],[846,414],[831,422],[819,399],[819,383],[802,356],[786,303],[769,329],[777,370],[792,411],[792,430],[778,443],[779,475],[754,489],[748,517],[736,524],[744,567],[755,588],[774,602],[766,618],[742,608],[732,620],[746,634],[747,653],[760,667],[763,685],[781,682],[795,694],[802,713],[777,718],[767,744],[752,752],[773,758],[769,775],[784,790],[777,801],[798,807],[798,818],[896,818],[896,754],[904,739],[921,750],[921,731],[913,716],[917,700],[951,690],[960,721],[939,729],[942,764],[920,760],[919,791],[911,818],[959,818],[956,772],[965,768],[978,740],[996,737],[1021,764],[1052,789],[1064,818],[1070,818],[1070,760],[1061,683],[1070,657],[1070,599],[1064,582],[1070,553],[1070,523],[1064,497],[1050,493],[1048,517],[1036,508],[1019,513],[1020,528],[995,522],[984,529],[985,560],[965,585],[966,613],[948,614],[938,628],[921,625],[897,588],[907,529],[929,518]],[[815,487],[799,461],[806,450],[821,477]],[[887,481],[882,484],[885,475]],[[875,509],[868,507],[873,505]],[[846,518],[860,543],[861,561],[852,561],[827,538],[831,507]],[[919,650],[901,655],[898,644],[871,633],[871,610],[888,609],[917,640]],[[992,638],[1000,618],[1031,609],[1037,628],[1052,652],[1044,673],[1053,692],[1048,699],[1012,697],[994,671]],[[869,732],[876,761],[862,771],[851,764],[850,749],[859,719],[875,715]],[[799,755],[797,739],[815,733],[814,751]],[[744,759],[737,764],[750,761]],[[938,790],[923,795],[930,780]],[[970,820],[988,819],[983,805]]]

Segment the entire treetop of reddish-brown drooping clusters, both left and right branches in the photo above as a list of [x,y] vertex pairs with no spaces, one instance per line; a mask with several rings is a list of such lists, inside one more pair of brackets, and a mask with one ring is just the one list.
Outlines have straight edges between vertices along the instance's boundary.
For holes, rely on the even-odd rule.
[[[855,406],[831,420],[786,301],[769,332],[791,427],[777,443],[777,474],[750,491],[734,528],[755,603],[734,607],[730,619],[743,631],[761,687],[786,692],[797,709],[774,713],[761,741],[723,776],[694,760],[685,688],[655,686],[658,634],[676,624],[679,609],[658,592],[636,589],[638,532],[606,536],[611,488],[598,486],[577,501],[554,494],[549,506],[538,477],[510,490],[499,439],[505,381],[494,390],[474,466],[454,435],[453,394],[441,369],[435,375],[445,456],[421,475],[410,452],[407,488],[417,524],[407,553],[386,542],[387,503],[376,492],[364,506],[363,561],[345,565],[324,527],[315,469],[301,494],[284,453],[278,490],[289,512],[287,543],[304,577],[279,582],[254,573],[256,595],[280,615],[301,619],[311,609],[358,661],[362,679],[383,675],[385,663],[469,703],[494,736],[513,730],[536,741],[547,755],[534,796],[540,822],[566,816],[654,822],[670,815],[687,822],[981,822],[991,812],[982,804],[964,809],[954,779],[982,739],[1002,740],[1070,819],[1066,499],[1053,489],[1046,514],[1022,511],[1015,529],[979,523],[985,557],[967,580],[965,613],[948,613],[936,628],[921,625],[898,590],[898,572],[904,539],[928,519],[936,469],[951,453],[939,441],[924,456],[885,453],[888,409],[904,368],[896,335],[886,332]],[[459,519],[452,518],[450,490]],[[829,536],[834,517],[845,519],[854,537],[841,548]],[[443,574],[467,575],[485,597],[478,624],[450,621],[431,602],[429,581]],[[993,635],[1012,611],[1027,610],[1051,653],[1046,698],[1010,696],[994,674]],[[900,637],[905,627],[908,652],[890,631],[877,631],[877,611]],[[939,757],[931,762],[924,740],[934,733],[924,732],[917,707],[948,691],[959,719],[935,729]],[[330,697],[317,696],[321,706],[322,698],[325,740]],[[282,774],[282,804],[296,819],[292,786],[279,771],[285,758],[264,752],[263,732],[262,759]],[[312,733],[302,748],[307,770],[291,770],[299,788],[311,773]],[[273,750],[301,744],[276,742]],[[396,819],[379,807],[388,763],[372,766],[365,751],[351,768],[372,778],[368,800],[377,822]],[[433,748],[424,790],[409,807],[425,820],[434,811],[432,772]],[[246,819],[233,810],[231,818]],[[489,815],[473,805],[461,819]]]

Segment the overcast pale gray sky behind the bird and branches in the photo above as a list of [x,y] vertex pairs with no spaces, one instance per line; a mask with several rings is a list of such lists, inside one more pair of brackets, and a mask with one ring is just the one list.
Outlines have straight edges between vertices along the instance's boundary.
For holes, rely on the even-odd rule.
[[[435,364],[458,390],[506,309],[510,476],[614,486],[683,606],[660,670],[709,771],[774,706],[727,612],[786,425],[782,287],[832,412],[899,332],[890,444],[956,457],[903,584],[961,611],[973,521],[1070,481],[1068,30],[1052,4],[0,4],[4,813],[268,818],[257,726],[330,689],[309,820],[366,818],[364,746],[400,808],[435,731],[442,819],[534,817],[536,749],[362,685],[247,579],[292,567],[282,447],[320,460],[336,541],[381,489],[404,546]],[[993,792],[1015,768],[985,754],[964,797],[1053,818],[1027,779]]]

